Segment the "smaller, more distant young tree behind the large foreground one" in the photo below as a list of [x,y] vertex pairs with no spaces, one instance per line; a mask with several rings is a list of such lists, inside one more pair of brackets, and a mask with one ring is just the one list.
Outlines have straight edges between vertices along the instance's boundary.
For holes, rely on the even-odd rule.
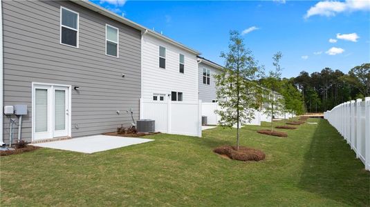
[[284,101],[281,95],[277,94],[277,90],[279,90],[281,86],[281,66],[280,66],[280,59],[283,57],[281,52],[277,52],[272,57],[272,65],[275,67],[275,70],[270,70],[268,76],[262,79],[262,84],[268,90],[265,90],[265,99],[264,102],[266,111],[264,112],[266,115],[271,117],[271,132],[272,128],[272,119],[274,115],[277,113],[277,108],[281,107],[282,101]]

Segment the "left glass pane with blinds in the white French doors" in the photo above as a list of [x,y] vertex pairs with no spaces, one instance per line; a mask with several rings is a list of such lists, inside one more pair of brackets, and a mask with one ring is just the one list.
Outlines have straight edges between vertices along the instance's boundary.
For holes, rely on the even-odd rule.
[[48,90],[35,90],[35,132],[48,131]]

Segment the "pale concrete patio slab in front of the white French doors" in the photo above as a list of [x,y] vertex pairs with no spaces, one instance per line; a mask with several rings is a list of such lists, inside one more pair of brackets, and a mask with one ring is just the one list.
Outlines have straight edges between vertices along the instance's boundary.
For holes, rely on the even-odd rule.
[[66,139],[61,141],[50,141],[39,144],[31,144],[42,148],[53,148],[58,150],[68,150],[73,152],[94,153],[122,148],[133,144],[141,144],[154,139],[142,139],[133,137],[116,137],[108,135],[93,135],[87,137],[79,137],[74,139]]

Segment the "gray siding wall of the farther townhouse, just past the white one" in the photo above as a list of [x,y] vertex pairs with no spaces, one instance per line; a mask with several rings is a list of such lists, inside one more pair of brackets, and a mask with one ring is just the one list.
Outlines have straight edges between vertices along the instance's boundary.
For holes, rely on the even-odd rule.
[[[211,72],[211,80],[210,85],[203,83],[203,68],[210,69]],[[199,99],[203,101],[203,103],[210,103],[212,100],[216,99],[216,84],[214,82],[214,75],[221,73],[221,70],[214,68],[212,66],[208,66],[205,63],[198,64],[198,91],[199,91]]]

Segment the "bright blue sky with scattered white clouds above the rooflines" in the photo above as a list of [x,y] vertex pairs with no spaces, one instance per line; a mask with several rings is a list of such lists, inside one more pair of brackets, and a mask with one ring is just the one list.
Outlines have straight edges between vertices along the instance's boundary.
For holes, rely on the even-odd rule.
[[221,65],[230,30],[243,33],[266,70],[272,68],[272,55],[283,52],[283,77],[325,67],[348,72],[370,62],[370,0],[93,2]]

